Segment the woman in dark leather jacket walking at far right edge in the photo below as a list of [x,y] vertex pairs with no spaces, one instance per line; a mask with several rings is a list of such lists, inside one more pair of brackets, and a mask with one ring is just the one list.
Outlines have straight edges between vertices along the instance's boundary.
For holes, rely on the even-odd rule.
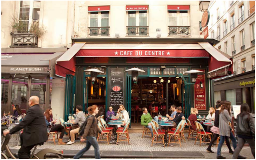
[[237,159],[245,142],[249,144],[252,155],[255,158],[255,124],[252,116],[250,115],[250,108],[247,103],[241,104],[241,113],[237,115],[236,121],[238,146],[234,151],[233,159]]

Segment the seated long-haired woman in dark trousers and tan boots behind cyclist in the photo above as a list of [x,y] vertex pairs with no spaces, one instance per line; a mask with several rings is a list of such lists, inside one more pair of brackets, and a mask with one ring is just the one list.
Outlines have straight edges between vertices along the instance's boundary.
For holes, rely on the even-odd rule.
[[60,138],[58,140],[58,145],[66,144],[62,142],[65,129],[61,124],[55,124],[57,121],[52,119],[52,108],[49,107],[46,109],[46,111],[44,112],[44,118],[45,118],[46,126],[49,132],[56,132],[56,131],[61,132]]

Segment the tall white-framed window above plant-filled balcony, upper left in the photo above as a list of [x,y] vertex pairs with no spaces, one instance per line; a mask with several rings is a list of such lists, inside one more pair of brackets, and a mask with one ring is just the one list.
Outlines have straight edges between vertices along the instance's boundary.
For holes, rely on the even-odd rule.
[[27,32],[33,22],[39,21],[40,1],[20,1],[19,24],[22,32]]

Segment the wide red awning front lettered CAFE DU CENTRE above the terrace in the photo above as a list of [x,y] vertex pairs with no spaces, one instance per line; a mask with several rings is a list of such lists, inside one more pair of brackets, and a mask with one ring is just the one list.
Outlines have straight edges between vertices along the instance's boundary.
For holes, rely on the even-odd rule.
[[175,58],[199,58],[209,57],[206,50],[137,50],[137,49],[81,49],[76,57],[175,57]]

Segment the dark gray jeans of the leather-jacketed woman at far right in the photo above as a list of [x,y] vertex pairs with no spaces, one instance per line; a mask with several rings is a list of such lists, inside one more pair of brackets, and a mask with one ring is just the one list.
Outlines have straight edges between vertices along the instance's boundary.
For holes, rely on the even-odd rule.
[[252,155],[255,158],[255,140],[254,140],[254,138],[252,138],[252,139],[243,139],[243,138],[238,137],[238,146],[236,147],[236,149],[234,151],[233,159],[237,159],[237,156],[240,153],[240,151],[242,150],[245,141],[248,142],[248,144],[251,148],[251,151],[252,151]]

